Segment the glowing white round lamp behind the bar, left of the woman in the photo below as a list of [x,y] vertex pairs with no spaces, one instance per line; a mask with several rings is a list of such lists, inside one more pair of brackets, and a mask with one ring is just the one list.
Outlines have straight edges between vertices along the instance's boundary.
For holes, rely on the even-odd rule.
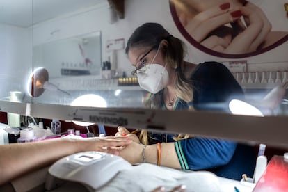
[[[91,106],[91,107],[107,107],[107,103],[105,99],[99,95],[95,94],[87,94],[87,95],[81,95],[80,97],[77,97],[77,99],[74,99],[74,101],[70,104],[72,106]],[[93,122],[81,122],[81,121],[75,121],[73,120],[76,125],[79,126],[86,126],[87,131],[89,133],[88,126],[93,125]],[[99,127],[99,134],[105,134],[104,126],[98,125]]]

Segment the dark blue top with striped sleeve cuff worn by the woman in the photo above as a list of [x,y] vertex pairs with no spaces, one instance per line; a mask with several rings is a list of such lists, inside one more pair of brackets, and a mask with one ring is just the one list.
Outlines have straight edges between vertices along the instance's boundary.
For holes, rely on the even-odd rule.
[[[232,98],[240,99],[244,95],[232,73],[221,63],[200,63],[191,74],[191,80],[194,88],[193,101],[186,103],[178,99],[174,110],[188,109],[189,105],[192,105],[197,111],[230,113],[228,102]],[[164,103],[162,106],[166,109]],[[151,136],[150,143],[153,144],[175,142],[172,136],[177,134],[151,133]],[[182,169],[189,170],[210,170],[224,166],[232,159],[236,147],[237,143],[233,141],[203,137],[175,142],[175,150]],[[225,173],[221,173],[221,176],[225,177]],[[241,175],[239,176],[241,178]]]

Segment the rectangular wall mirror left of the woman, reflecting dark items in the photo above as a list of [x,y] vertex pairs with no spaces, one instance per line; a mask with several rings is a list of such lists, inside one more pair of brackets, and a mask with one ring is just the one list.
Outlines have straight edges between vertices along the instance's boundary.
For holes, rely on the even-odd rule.
[[93,75],[102,70],[101,33],[74,36],[33,46],[33,65],[45,67],[50,78]]

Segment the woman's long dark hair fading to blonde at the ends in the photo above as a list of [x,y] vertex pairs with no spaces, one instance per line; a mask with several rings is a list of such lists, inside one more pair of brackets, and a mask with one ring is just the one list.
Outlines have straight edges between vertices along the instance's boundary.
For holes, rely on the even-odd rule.
[[[163,26],[157,23],[145,23],[139,26],[127,42],[126,54],[128,54],[131,47],[155,47],[154,45],[159,45],[162,40],[167,40],[168,42],[168,45],[162,48],[162,54],[165,56],[167,64],[176,70],[176,96],[184,102],[191,102],[193,99],[193,86],[191,81],[186,79],[183,73],[184,69],[181,68],[184,62],[184,44],[178,38],[170,35]],[[143,103],[147,108],[160,109],[162,101],[163,91],[160,91],[159,93],[148,95],[143,100]],[[189,106],[189,110],[193,110],[193,107]],[[141,130],[139,139],[143,144],[149,144],[148,137],[149,134],[147,131]],[[174,137],[174,140],[179,141],[184,138],[189,138],[189,135],[179,134],[177,137]]]

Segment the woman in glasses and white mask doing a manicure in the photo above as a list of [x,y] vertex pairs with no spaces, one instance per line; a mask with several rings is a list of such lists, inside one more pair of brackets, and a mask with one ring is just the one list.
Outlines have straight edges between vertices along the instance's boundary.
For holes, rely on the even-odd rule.
[[[126,53],[136,67],[132,74],[137,75],[141,88],[150,92],[145,105],[152,109],[224,113],[230,99],[243,97],[241,86],[227,67],[216,62],[195,65],[184,61],[182,42],[160,24],[139,26],[127,42]],[[125,127],[118,127],[116,136],[127,134]],[[147,162],[185,170],[211,169],[233,179],[240,179],[241,172],[248,171],[224,171],[223,166],[231,161],[237,148],[233,141],[147,131],[141,131],[140,139],[135,134],[128,136],[134,142],[119,154],[132,164]]]

